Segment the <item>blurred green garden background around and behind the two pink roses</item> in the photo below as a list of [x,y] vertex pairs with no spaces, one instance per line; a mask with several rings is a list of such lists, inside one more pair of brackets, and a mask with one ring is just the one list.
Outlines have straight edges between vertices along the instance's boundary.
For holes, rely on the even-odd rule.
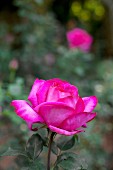
[[[89,53],[69,49],[66,32],[75,27],[93,36]],[[10,102],[27,99],[36,77],[59,77],[98,97],[97,118],[75,152],[89,170],[113,170],[113,0],[0,1],[0,152],[25,145],[27,126]],[[14,159],[0,159],[0,170],[18,170]]]

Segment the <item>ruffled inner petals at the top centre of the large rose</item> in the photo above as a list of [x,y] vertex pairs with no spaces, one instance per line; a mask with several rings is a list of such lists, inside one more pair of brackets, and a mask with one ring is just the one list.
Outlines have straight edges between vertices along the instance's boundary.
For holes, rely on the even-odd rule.
[[45,81],[37,93],[38,103],[57,102],[58,99],[73,96],[78,99],[78,89],[76,86],[58,78]]

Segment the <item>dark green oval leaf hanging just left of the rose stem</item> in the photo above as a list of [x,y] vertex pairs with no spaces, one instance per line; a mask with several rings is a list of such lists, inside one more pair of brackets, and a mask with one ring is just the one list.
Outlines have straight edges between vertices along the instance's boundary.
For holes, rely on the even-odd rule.
[[39,134],[34,134],[30,137],[26,145],[26,152],[35,160],[43,149],[43,139]]

